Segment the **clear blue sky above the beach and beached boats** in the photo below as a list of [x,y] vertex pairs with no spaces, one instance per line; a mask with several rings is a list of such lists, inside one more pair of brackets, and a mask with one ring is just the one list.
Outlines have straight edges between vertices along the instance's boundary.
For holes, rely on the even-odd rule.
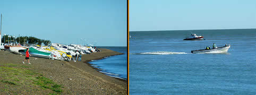
[[63,44],[127,44],[125,0],[1,0],[0,13],[2,36],[20,34]]

